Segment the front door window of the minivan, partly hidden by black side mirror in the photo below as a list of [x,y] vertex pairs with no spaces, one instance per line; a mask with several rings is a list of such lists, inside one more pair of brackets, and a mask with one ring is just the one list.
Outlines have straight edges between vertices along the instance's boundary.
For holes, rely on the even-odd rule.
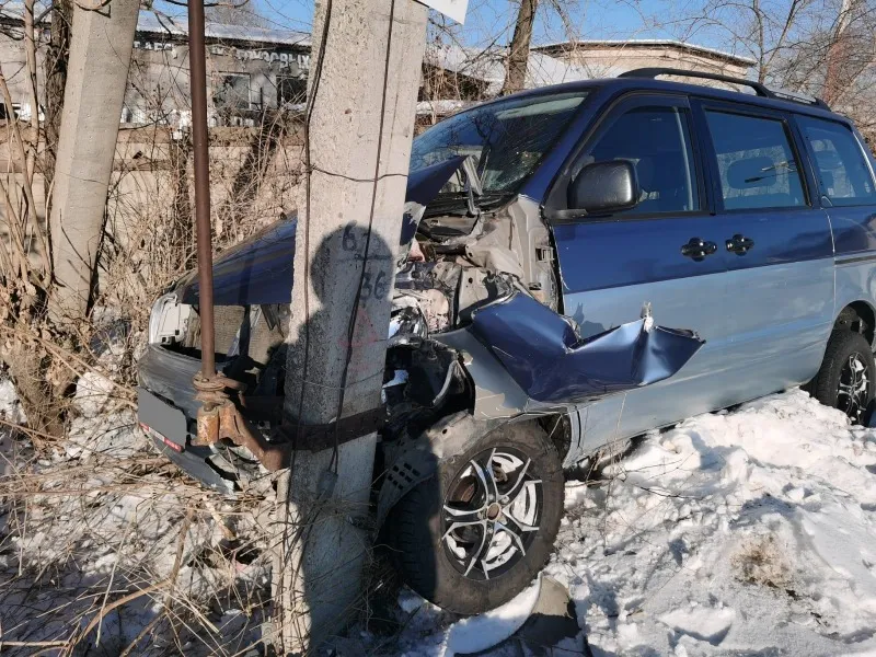
[[636,168],[639,203],[623,215],[700,209],[685,110],[637,107],[622,114],[589,149],[581,166],[607,160],[630,160]]

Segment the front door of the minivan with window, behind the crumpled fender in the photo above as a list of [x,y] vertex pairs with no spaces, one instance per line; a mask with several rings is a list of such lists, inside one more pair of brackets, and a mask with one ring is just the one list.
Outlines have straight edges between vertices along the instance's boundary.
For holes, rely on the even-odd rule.
[[616,102],[585,137],[569,180],[590,162],[615,159],[635,164],[636,207],[598,217],[566,210],[552,220],[565,314],[592,336],[635,320],[649,303],[658,324],[696,331],[706,344],[671,379],[581,408],[579,453],[718,407],[727,367],[726,252],[718,246],[728,228],[708,211],[688,100]]

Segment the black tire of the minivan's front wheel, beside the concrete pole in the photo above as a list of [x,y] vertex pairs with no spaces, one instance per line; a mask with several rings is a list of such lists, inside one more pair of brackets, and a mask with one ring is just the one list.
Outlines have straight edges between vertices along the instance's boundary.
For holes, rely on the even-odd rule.
[[[527,463],[525,459],[529,460],[526,468],[523,468]],[[514,465],[516,461],[520,464]],[[470,493],[472,486],[470,482],[474,481],[476,472],[473,462],[492,463],[495,474],[491,483],[498,481],[494,496],[500,500],[508,500],[510,495],[514,495],[516,500],[507,502],[507,506],[499,504],[500,510],[497,511],[496,505],[488,504],[489,498],[482,497],[477,482],[474,482],[476,489]],[[510,474],[506,473],[503,462],[512,464],[508,469]],[[485,470],[481,472],[486,473]],[[520,491],[515,492],[514,484],[518,483],[518,480],[523,483],[519,484]],[[483,486],[487,485],[484,481]],[[526,494],[522,493],[522,488],[526,488]],[[407,493],[393,508],[388,519],[387,533],[405,581],[427,600],[456,613],[481,613],[507,602],[532,581],[551,556],[563,516],[563,489],[560,454],[544,430],[534,422],[506,425],[477,440],[464,453],[441,460],[437,474]],[[459,491],[463,494],[458,495]],[[470,494],[471,502],[458,502],[458,498],[464,499],[465,494]],[[522,499],[523,495],[527,499]],[[446,504],[453,508],[454,512],[465,515],[451,516],[447,511]],[[473,518],[470,514],[474,511],[458,510],[458,507],[468,508],[466,504],[471,508],[485,508],[480,511],[485,518],[484,526],[453,530],[452,522],[458,518],[463,520]],[[515,504],[518,506],[515,507]],[[482,567],[485,561],[477,563],[476,560],[453,556],[460,552],[452,552],[451,541],[459,551],[464,552],[464,548],[460,546],[469,545],[471,554],[484,556],[488,554],[479,552],[483,546],[483,542],[477,545],[480,535],[489,537],[489,545],[494,548],[500,548],[500,541],[510,542],[512,539],[506,531],[488,530],[486,527],[495,528],[496,525],[504,523],[519,530],[523,526],[520,525],[521,519],[517,519],[516,516],[521,508],[526,508],[527,514],[538,509],[537,515],[532,516],[538,520],[538,522],[532,521],[533,526],[538,525],[538,531],[518,532],[518,537],[521,538],[519,545],[525,548],[525,554],[519,552],[518,543],[514,543],[514,553],[507,563],[487,569],[486,576]],[[508,518],[512,510],[515,516]],[[498,515],[491,518],[494,514]],[[452,519],[449,521],[448,517]],[[448,522],[451,522],[449,528]],[[489,533],[491,531],[495,533]],[[447,534],[450,539],[446,541],[443,537]],[[463,539],[472,541],[457,542],[460,534],[464,534]],[[495,542],[494,537],[496,537]],[[477,567],[472,565],[466,574],[464,572],[466,563],[476,564]]]

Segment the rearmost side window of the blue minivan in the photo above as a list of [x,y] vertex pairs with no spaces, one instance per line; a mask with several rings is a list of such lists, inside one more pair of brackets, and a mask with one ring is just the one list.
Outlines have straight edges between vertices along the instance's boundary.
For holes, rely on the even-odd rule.
[[809,149],[821,194],[834,206],[876,204],[873,175],[855,136],[841,124],[797,117]]

